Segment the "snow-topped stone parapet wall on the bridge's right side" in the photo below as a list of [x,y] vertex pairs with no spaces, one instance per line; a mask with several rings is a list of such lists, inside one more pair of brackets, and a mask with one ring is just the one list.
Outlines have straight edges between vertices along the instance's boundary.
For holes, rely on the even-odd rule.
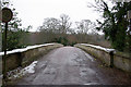
[[95,58],[100,59],[109,66],[116,66],[131,73],[131,55],[116,51],[115,49],[103,48],[88,44],[78,44],[74,47],[81,48]]

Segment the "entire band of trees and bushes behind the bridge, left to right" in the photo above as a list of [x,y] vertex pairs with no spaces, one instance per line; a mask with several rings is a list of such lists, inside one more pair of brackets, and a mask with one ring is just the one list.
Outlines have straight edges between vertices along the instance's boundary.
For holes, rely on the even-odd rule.
[[[115,48],[119,51],[131,52],[131,34],[127,12],[131,9],[131,2],[109,2],[95,0],[95,4],[90,4],[103,16],[103,21],[97,23],[90,20],[82,20],[72,23],[70,16],[61,14],[59,18],[47,17],[37,32],[32,33],[32,26],[21,28],[22,23],[17,17],[17,12],[12,9],[14,16],[9,23],[8,50],[24,48],[28,45],[39,45],[47,42],[59,42],[64,46],[75,44],[93,44],[107,48]],[[9,2],[2,2],[3,7]],[[72,28],[72,24],[75,27]],[[98,33],[103,32],[103,35]],[[2,36],[4,35],[4,24],[2,24]],[[2,37],[3,38],[3,37]],[[3,40],[2,40],[2,44]]]

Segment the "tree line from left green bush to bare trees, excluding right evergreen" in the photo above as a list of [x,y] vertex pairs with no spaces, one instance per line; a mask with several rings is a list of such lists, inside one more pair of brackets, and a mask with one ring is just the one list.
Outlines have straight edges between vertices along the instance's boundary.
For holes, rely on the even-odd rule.
[[[3,2],[4,7],[9,2]],[[31,33],[32,26],[21,28],[22,23],[17,17],[15,9],[13,11],[13,18],[9,23],[8,29],[8,50],[16,48],[25,48],[28,45],[39,45],[46,42],[59,42],[64,46],[73,46],[75,44],[87,42],[94,45],[100,45],[104,47],[110,47],[109,41],[105,40],[104,35],[98,35],[96,24],[90,20],[82,20],[75,22],[75,27],[72,28],[72,22],[70,16],[61,14],[59,18],[47,17],[44,20],[41,26],[37,28],[37,32]],[[4,36],[4,24],[2,25],[2,38]],[[2,39],[2,44],[3,39]]]

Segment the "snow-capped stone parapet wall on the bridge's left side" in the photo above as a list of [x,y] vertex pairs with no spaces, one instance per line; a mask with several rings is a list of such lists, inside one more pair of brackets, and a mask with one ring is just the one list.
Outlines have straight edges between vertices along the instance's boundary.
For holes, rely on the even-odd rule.
[[[28,46],[23,49],[15,49],[12,51],[8,51],[7,61],[5,61],[5,70],[11,71],[19,66],[28,65],[31,62],[37,60],[40,55],[46,54],[52,49],[63,47],[60,44],[45,44],[45,45],[35,45]],[[3,52],[0,52],[0,57],[3,57]]]

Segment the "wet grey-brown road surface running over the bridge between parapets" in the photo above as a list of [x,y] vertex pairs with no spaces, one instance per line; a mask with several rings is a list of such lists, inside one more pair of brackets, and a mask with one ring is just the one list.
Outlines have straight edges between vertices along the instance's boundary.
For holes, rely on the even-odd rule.
[[35,73],[17,85],[131,85],[131,77],[79,48],[62,47],[39,59]]

